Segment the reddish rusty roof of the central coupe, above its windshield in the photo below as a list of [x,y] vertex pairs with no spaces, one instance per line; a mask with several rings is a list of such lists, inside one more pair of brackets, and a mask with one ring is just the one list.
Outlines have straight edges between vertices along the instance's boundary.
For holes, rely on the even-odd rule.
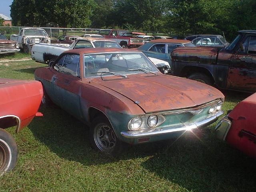
[[122,48],[82,48],[67,50],[64,53],[72,54],[93,54],[93,53],[109,53],[109,52],[141,52],[136,49],[122,49]]

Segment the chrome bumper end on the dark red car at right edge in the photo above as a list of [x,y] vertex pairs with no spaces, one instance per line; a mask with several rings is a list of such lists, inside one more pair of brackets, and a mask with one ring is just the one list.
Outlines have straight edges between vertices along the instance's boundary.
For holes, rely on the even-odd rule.
[[228,119],[228,115],[224,116],[216,125],[216,137],[220,140],[226,140],[226,136],[231,127],[231,121]]

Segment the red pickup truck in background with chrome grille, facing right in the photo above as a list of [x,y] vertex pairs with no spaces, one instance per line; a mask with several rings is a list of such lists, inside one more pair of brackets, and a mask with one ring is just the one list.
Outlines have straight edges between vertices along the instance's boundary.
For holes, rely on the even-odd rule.
[[111,39],[120,44],[122,48],[136,48],[145,43],[143,38],[138,38],[138,35],[145,35],[139,32],[129,32],[127,30],[100,30],[99,35],[104,36],[106,39]]

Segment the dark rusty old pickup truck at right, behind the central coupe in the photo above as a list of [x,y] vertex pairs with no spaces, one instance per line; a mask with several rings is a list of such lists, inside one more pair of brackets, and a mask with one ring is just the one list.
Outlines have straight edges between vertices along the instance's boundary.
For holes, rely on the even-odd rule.
[[256,30],[238,31],[234,41],[221,50],[176,48],[171,65],[175,76],[222,89],[256,92]]

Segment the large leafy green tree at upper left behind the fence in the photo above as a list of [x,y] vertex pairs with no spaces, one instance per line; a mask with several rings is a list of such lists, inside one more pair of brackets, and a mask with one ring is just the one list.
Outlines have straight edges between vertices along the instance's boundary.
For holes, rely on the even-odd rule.
[[48,22],[60,27],[88,27],[94,0],[14,0],[12,23],[16,26],[44,26]]

